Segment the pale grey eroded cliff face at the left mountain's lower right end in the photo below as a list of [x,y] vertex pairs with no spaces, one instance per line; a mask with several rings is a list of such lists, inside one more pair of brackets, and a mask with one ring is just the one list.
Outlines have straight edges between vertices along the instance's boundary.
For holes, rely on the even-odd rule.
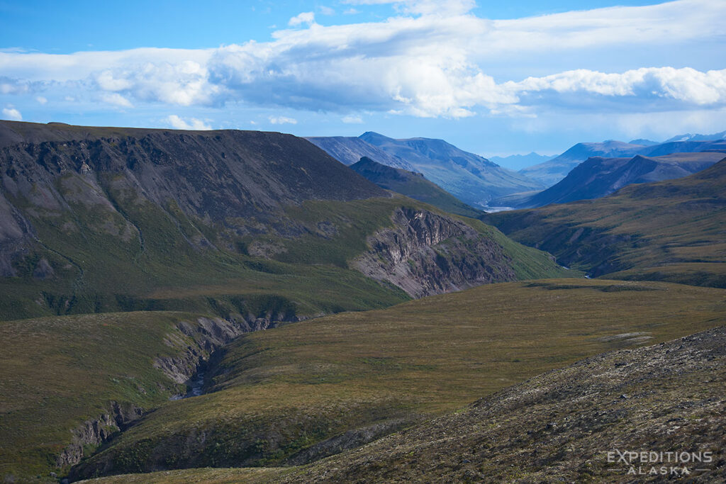
[[351,265],[412,298],[516,279],[502,247],[465,223],[411,208],[396,210],[392,220]]

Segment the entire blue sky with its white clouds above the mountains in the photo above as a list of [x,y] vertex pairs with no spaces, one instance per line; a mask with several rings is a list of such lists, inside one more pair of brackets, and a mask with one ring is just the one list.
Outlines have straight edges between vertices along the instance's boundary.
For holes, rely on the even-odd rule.
[[726,1],[0,0],[0,118],[446,139],[726,129]]

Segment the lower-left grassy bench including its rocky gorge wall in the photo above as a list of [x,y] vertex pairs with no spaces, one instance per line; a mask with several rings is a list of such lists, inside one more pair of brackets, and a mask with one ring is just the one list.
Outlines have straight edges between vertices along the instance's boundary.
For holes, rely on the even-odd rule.
[[0,322],[0,477],[67,470],[186,393],[214,348],[274,320],[146,311]]

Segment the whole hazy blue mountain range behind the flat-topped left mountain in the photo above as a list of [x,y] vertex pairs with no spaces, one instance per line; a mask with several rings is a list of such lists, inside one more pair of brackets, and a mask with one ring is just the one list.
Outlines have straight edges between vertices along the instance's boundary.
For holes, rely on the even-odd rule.
[[[393,139],[368,131],[358,138],[310,138],[341,163],[351,164],[355,155],[366,156],[384,165],[423,173],[426,179],[473,207],[486,207],[505,194],[542,189],[544,186],[484,157],[465,152],[442,139]],[[365,145],[386,152],[375,155]],[[391,160],[393,157],[393,160]],[[357,161],[357,160],[356,160]]]

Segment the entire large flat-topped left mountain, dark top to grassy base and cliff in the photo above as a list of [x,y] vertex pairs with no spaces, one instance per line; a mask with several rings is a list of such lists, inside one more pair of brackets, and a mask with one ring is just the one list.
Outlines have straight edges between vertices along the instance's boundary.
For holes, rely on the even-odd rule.
[[0,319],[282,298],[260,311],[289,321],[563,274],[280,133],[4,121],[0,171]]

